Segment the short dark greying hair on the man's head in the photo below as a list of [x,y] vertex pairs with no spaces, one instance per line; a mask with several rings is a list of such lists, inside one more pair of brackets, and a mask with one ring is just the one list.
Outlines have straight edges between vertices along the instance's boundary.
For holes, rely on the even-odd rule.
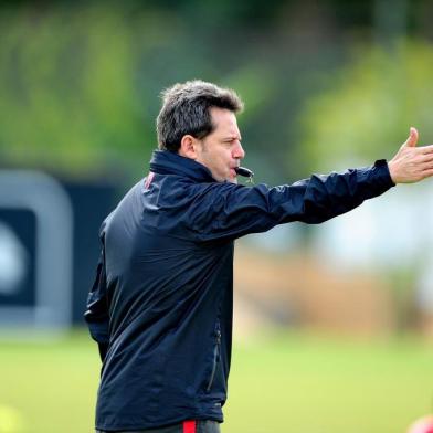
[[161,93],[162,108],[157,117],[158,147],[177,152],[184,135],[202,139],[214,129],[209,109],[242,112],[243,102],[230,88],[201,80],[177,83]]

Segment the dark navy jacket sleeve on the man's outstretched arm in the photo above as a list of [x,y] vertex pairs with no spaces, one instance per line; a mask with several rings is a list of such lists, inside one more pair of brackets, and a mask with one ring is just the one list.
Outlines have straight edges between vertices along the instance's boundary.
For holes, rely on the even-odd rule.
[[393,186],[386,160],[275,188],[214,183],[192,210],[192,230],[200,241],[212,241],[264,232],[292,221],[318,224]]

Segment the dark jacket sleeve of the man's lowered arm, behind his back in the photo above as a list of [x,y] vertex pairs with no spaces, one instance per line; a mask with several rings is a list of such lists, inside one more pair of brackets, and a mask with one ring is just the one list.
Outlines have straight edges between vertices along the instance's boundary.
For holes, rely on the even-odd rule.
[[87,309],[84,319],[92,338],[98,344],[101,360],[104,361],[108,349],[108,302],[105,273],[104,235],[101,235],[103,247],[96,267],[96,276],[87,297]]

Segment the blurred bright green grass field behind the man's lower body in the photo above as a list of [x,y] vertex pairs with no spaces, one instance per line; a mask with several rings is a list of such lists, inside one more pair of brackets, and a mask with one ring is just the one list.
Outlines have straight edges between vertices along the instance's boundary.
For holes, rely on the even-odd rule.
[[[234,346],[223,433],[399,433],[433,408],[427,341],[272,334]],[[99,362],[85,331],[0,341],[0,433],[86,433]]]

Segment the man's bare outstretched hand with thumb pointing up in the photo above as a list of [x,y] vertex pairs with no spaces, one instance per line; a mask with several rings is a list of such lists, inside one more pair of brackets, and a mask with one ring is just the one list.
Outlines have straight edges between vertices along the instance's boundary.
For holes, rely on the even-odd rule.
[[433,146],[416,147],[418,137],[412,127],[405,142],[388,162],[394,183],[413,183],[433,176]]

